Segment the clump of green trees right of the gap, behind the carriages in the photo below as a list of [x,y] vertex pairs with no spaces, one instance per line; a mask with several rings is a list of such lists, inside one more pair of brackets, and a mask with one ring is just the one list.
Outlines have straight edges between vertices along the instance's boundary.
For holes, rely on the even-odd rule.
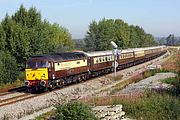
[[143,28],[128,25],[121,19],[92,21],[84,39],[86,51],[110,50],[114,41],[121,48],[147,47],[155,44],[151,34]]

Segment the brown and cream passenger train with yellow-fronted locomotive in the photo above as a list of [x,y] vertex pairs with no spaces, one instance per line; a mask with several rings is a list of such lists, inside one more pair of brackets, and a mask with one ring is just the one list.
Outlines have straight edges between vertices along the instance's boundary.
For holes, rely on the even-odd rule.
[[112,50],[36,55],[26,62],[25,86],[35,91],[53,90],[110,73],[115,61],[120,70],[157,58],[166,51],[166,46],[155,46],[124,49],[116,57]]

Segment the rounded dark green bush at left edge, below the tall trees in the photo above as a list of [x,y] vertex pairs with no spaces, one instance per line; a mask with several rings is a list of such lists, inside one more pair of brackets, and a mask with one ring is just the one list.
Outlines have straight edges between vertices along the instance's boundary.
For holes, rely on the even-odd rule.
[[0,51],[0,83],[12,83],[18,74],[15,58],[9,52]]

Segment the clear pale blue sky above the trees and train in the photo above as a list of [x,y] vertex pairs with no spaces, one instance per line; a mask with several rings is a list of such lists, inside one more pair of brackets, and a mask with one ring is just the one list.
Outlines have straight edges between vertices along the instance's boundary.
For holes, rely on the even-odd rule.
[[180,36],[180,0],[0,0],[0,21],[21,4],[67,28],[73,39],[84,38],[89,24],[103,18],[122,19],[155,37]]

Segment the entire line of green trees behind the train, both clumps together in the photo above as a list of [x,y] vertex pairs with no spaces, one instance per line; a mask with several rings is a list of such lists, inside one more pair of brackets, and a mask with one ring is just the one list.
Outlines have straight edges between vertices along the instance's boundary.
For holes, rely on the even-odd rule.
[[151,46],[152,35],[120,19],[93,21],[85,39],[73,41],[68,29],[43,20],[36,8],[23,5],[0,22],[0,83],[13,82],[27,59],[38,54],[71,51],[109,50],[110,41],[121,48]]

